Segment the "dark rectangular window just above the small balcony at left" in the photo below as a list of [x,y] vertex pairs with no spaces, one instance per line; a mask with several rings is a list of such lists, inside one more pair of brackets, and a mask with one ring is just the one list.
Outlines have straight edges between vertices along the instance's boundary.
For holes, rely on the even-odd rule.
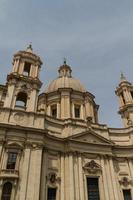
[[9,152],[6,169],[15,169],[17,153]]

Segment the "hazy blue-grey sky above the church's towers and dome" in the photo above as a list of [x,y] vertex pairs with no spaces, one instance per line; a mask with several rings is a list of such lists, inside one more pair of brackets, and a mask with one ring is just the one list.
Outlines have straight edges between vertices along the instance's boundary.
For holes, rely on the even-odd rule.
[[132,0],[0,0],[0,84],[12,56],[32,42],[43,60],[41,80],[57,76],[63,58],[100,105],[99,121],[121,127],[115,88],[133,81]]

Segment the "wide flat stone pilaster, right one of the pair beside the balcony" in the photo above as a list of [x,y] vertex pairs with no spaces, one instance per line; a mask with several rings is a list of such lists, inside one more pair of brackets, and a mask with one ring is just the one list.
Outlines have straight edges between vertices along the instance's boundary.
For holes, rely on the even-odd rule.
[[37,146],[31,150],[26,200],[39,200],[42,149]]

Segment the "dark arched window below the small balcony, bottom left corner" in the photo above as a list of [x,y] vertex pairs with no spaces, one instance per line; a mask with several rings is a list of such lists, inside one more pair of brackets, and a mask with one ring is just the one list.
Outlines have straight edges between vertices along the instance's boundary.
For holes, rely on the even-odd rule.
[[12,184],[10,182],[6,182],[3,185],[1,200],[11,200],[11,193],[12,193]]

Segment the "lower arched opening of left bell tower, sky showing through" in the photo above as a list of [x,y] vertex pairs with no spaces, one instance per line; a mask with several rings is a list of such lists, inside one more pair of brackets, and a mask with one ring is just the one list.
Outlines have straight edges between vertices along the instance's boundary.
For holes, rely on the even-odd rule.
[[26,104],[27,104],[27,94],[24,92],[18,93],[15,106],[26,108]]

